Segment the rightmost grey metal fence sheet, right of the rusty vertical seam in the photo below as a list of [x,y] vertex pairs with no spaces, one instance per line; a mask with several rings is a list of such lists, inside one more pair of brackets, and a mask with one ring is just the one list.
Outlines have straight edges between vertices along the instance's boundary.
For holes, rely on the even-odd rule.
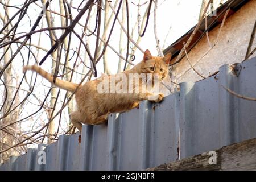
[[224,89],[256,98],[255,63],[223,65],[214,77],[180,85],[181,158],[256,137],[256,102]]

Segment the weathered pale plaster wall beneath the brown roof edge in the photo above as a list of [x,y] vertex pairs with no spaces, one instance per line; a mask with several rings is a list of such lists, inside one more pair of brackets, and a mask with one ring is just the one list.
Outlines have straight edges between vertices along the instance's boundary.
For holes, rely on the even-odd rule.
[[[201,75],[208,77],[210,73],[218,71],[221,65],[241,63],[245,59],[251,32],[256,20],[255,12],[256,0],[249,1],[240,10],[226,19],[216,46],[209,51],[210,47],[207,37],[204,36],[189,52],[188,56],[192,65]],[[219,29],[220,25],[209,32],[212,44],[216,42]],[[252,49],[255,47],[256,40],[254,40]],[[205,55],[205,53],[207,54]],[[255,55],[256,53],[253,56]],[[191,69],[186,57],[177,65],[176,76],[178,82],[202,79]]]

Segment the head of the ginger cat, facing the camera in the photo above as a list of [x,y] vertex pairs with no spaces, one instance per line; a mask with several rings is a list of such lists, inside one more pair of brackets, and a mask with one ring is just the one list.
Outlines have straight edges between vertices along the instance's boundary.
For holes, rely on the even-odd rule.
[[164,57],[152,56],[150,51],[146,50],[141,64],[141,72],[152,74],[152,78],[155,74],[158,74],[159,81],[162,81],[168,76],[168,64],[171,57],[171,53],[167,53]]

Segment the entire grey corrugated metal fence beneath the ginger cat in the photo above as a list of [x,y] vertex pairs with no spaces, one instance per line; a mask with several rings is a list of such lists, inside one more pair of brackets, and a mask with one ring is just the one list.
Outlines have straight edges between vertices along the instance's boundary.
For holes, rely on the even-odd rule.
[[[108,124],[85,125],[79,134],[61,135],[12,157],[0,170],[139,170],[256,137],[256,58],[224,65],[220,73],[180,84],[180,92],[160,104],[143,101],[139,109],[110,114]],[[46,153],[46,164],[38,159]]]

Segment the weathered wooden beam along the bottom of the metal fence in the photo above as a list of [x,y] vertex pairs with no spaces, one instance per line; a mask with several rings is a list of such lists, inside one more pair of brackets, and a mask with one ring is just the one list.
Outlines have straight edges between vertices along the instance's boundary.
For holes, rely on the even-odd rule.
[[147,170],[256,170],[256,138],[225,146],[214,152],[216,152],[216,164],[210,164],[214,163],[214,156],[210,152],[204,152]]

